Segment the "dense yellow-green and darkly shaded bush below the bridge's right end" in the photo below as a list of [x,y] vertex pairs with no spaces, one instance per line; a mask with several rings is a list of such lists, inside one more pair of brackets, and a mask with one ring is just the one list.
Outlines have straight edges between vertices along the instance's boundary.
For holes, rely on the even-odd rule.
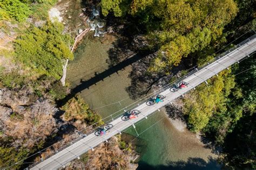
[[252,168],[256,166],[255,59],[251,56],[230,70],[190,93],[184,111],[191,130],[201,130],[215,145],[224,147],[220,159],[225,166]]

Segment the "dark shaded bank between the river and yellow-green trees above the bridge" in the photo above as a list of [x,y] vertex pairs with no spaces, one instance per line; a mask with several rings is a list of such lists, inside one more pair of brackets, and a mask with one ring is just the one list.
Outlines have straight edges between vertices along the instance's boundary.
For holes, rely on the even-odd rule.
[[146,40],[142,36],[134,36],[133,38],[119,36],[108,53],[109,59],[107,59],[107,63],[110,69],[119,63],[125,62],[125,60],[140,55],[140,58],[131,64],[132,71],[129,74],[131,85],[126,88],[126,92],[129,93],[130,98],[133,100],[168,84],[173,75],[184,69],[184,65],[180,64],[174,67],[169,75],[165,73],[149,73],[147,69],[153,58],[156,57],[157,52],[156,50],[150,50],[146,46]]

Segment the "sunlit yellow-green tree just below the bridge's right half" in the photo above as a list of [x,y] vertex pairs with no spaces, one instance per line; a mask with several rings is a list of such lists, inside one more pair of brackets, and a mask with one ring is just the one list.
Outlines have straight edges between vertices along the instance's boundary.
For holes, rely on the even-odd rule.
[[235,86],[231,70],[225,70],[208,80],[208,85],[201,84],[184,99],[184,113],[188,114],[188,127],[192,131],[203,130],[211,117],[224,114],[227,110],[226,98]]

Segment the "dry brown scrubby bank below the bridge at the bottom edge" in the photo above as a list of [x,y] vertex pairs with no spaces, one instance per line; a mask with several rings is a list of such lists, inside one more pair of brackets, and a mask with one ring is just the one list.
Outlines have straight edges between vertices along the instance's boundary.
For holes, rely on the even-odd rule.
[[79,160],[71,161],[64,169],[136,169],[138,165],[131,163],[135,152],[127,147],[121,148],[120,141],[120,137],[112,137]]

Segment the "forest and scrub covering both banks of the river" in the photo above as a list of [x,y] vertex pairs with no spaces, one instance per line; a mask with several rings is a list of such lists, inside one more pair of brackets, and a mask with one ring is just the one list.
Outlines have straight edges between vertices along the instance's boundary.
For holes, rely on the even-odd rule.
[[[0,33],[6,39],[0,42],[0,168],[18,161],[21,164],[12,168],[23,168],[22,161],[39,149],[86,126],[103,124],[80,96],[65,100],[72,90],[69,83],[62,86],[59,80],[65,60],[74,58],[70,50],[74,39],[63,33],[62,23],[50,21],[48,11],[56,3],[0,0]],[[179,65],[202,65],[218,56],[224,46],[225,50],[232,47],[233,40],[248,38],[256,30],[256,2],[250,0],[95,3],[107,24],[124,25],[129,39],[143,37],[144,46],[136,47],[140,53],[156,53],[143,74],[152,79],[174,77]],[[219,161],[226,168],[256,168],[255,76],[256,60],[251,55],[182,99],[188,129],[202,133],[212,149],[222,148]],[[123,153],[116,157],[125,160],[115,161],[129,167],[124,154],[130,154],[130,144],[118,147],[122,141],[112,140],[114,148]],[[111,150],[112,146],[105,147]],[[85,162],[98,161],[92,154]]]

